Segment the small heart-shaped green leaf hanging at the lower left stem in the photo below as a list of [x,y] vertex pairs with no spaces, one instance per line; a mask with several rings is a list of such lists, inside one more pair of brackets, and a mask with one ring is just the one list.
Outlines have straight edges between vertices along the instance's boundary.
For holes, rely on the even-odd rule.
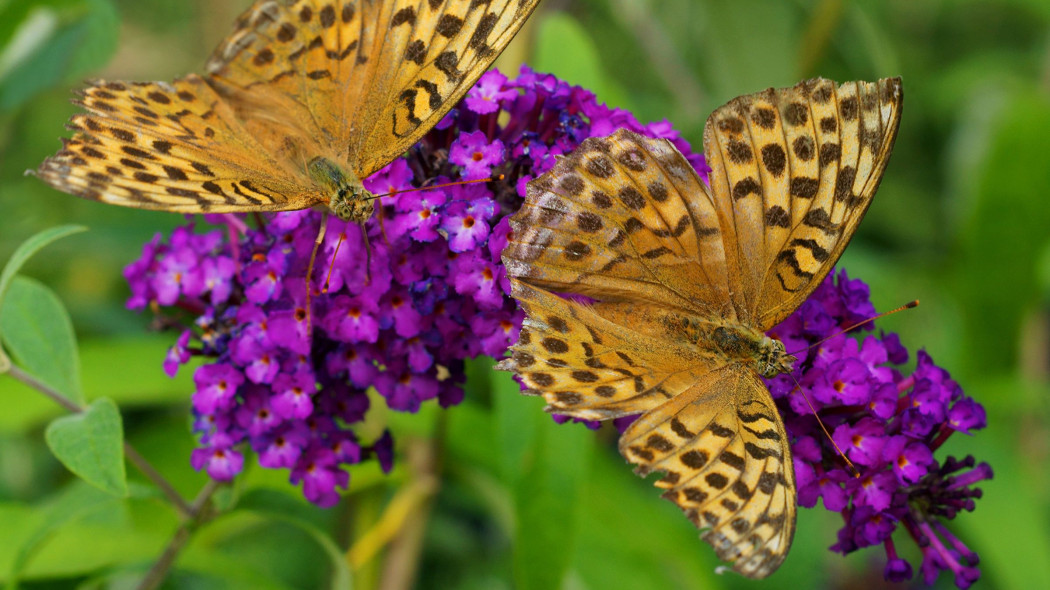
[[56,419],[44,438],[55,457],[78,477],[113,496],[128,494],[124,426],[112,400],[100,398],[82,414]]

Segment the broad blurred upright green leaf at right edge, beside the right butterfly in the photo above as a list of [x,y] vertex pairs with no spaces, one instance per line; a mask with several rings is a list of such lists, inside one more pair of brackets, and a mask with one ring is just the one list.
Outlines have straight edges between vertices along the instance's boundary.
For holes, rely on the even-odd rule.
[[962,255],[953,269],[971,359],[960,367],[964,377],[1017,366],[1023,323],[1041,295],[1042,249],[1050,244],[1050,208],[1037,197],[1050,186],[1050,167],[1043,150],[1022,146],[1045,145],[1048,135],[1050,109],[1042,90],[1016,92],[1001,111],[984,162],[965,178],[974,206],[961,228]]

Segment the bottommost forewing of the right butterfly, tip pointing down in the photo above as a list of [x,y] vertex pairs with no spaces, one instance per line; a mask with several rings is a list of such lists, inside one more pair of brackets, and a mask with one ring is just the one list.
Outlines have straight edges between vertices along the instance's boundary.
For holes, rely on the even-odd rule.
[[750,370],[723,365],[638,418],[620,439],[636,472],[704,530],[748,577],[783,562],[795,534],[795,475],[783,423]]

